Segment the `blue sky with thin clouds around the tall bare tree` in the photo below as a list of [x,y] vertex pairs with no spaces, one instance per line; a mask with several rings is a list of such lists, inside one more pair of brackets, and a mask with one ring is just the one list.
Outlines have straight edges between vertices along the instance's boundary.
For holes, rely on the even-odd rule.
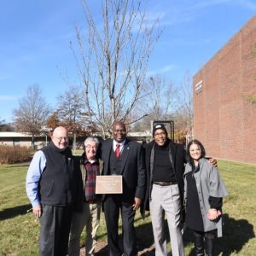
[[[100,0],[90,0],[100,15]],[[256,13],[254,0],[148,1],[151,17],[160,16],[164,32],[151,55],[148,73],[182,81],[195,74]],[[0,0],[0,120],[13,121],[13,110],[26,89],[39,84],[54,108],[67,90],[62,75],[76,80],[69,42],[74,24],[83,26],[79,0]]]

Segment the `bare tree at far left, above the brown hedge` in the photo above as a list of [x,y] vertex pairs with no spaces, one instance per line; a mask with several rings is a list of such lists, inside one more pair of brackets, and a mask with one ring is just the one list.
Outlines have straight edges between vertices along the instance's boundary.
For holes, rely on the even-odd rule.
[[45,102],[38,84],[27,88],[26,96],[20,99],[19,108],[14,110],[14,115],[17,130],[32,135],[34,148],[34,137],[41,134],[49,115],[49,105]]

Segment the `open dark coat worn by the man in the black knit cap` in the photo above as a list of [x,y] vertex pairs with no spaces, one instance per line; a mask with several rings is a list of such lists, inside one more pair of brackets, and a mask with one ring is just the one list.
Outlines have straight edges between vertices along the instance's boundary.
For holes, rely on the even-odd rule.
[[[172,162],[172,167],[175,172],[175,176],[177,178],[178,188],[180,191],[181,203],[183,205],[183,189],[184,189],[184,181],[183,181],[183,172],[184,172],[184,164],[186,162],[185,158],[185,149],[182,144],[173,143],[168,139],[169,143],[169,156]],[[152,170],[150,168],[150,156],[152,148],[154,148],[154,141],[144,145],[145,151],[145,168],[146,168],[146,176],[147,176],[147,188],[145,201],[143,205],[143,211],[149,210],[149,199],[151,198],[151,189],[152,189]]]

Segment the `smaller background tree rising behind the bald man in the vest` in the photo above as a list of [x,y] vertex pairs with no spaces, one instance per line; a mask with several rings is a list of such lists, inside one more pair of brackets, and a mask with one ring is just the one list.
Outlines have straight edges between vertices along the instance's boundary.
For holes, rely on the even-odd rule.
[[51,116],[52,120],[65,125],[73,135],[73,150],[76,148],[78,134],[92,129],[89,124],[88,112],[85,111],[83,93],[78,86],[69,86],[61,96],[57,97],[57,111]]

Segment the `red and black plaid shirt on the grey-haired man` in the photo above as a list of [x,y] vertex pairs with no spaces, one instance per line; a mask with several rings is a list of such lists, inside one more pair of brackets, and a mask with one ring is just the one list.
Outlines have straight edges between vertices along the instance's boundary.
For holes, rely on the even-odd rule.
[[84,167],[86,169],[87,175],[84,183],[84,194],[85,201],[96,202],[100,200],[100,196],[95,194],[96,189],[96,176],[100,174],[99,162],[96,160],[94,163],[90,161],[84,161]]

